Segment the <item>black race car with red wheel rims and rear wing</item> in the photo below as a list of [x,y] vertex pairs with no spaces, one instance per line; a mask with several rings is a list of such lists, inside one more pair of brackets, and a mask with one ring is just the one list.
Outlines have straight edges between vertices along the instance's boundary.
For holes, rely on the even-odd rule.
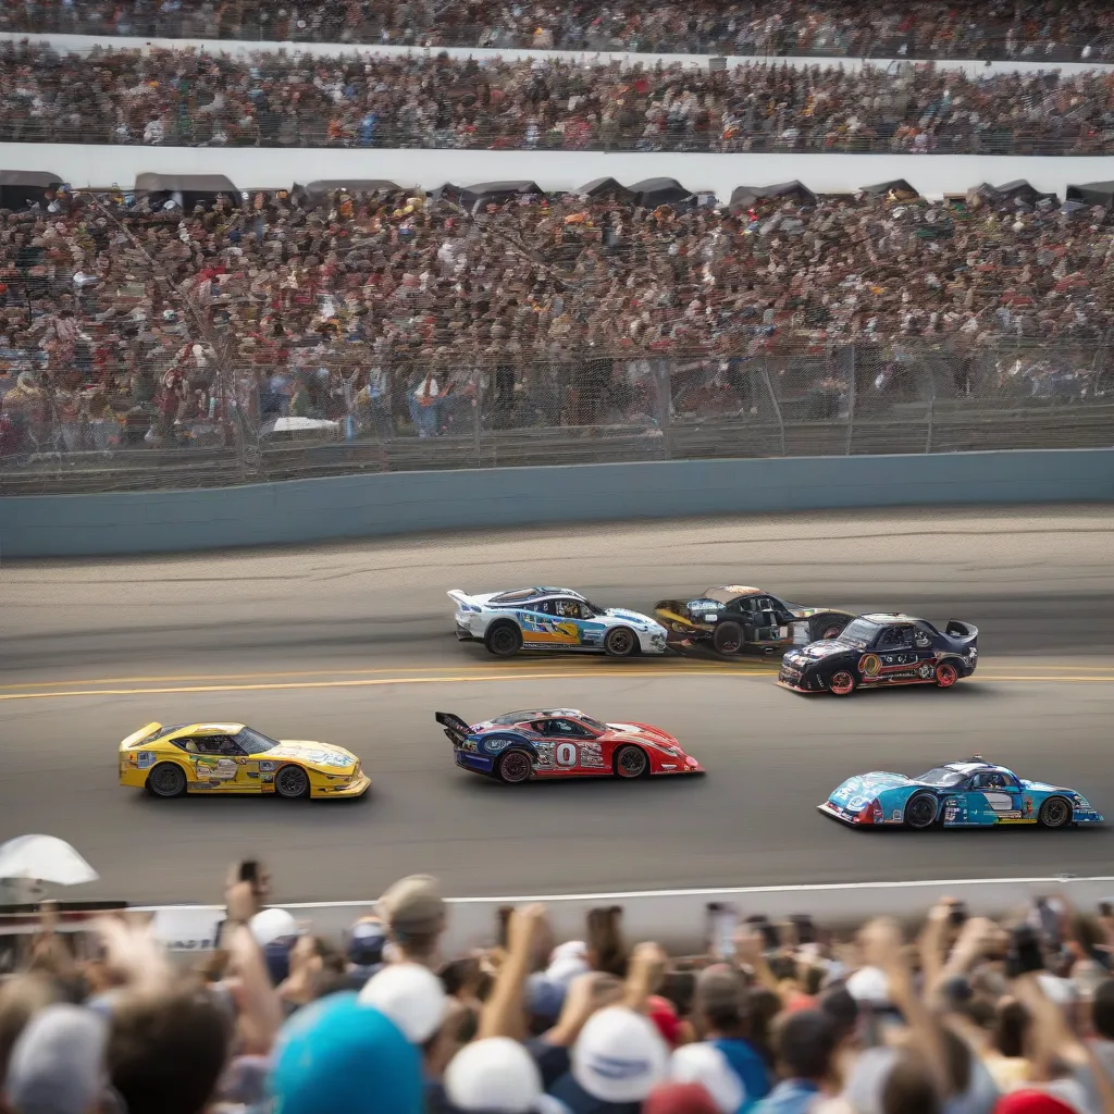
[[860,615],[836,638],[791,649],[778,684],[799,693],[850,696],[856,688],[950,688],[978,663],[978,628],[948,619],[942,632],[911,615]]

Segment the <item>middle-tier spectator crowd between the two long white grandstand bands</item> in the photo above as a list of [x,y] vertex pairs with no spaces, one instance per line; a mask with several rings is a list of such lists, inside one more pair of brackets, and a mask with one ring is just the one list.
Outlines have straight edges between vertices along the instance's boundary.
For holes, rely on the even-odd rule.
[[59,53],[6,41],[0,139],[169,146],[638,152],[1114,152],[1114,71],[559,57]]

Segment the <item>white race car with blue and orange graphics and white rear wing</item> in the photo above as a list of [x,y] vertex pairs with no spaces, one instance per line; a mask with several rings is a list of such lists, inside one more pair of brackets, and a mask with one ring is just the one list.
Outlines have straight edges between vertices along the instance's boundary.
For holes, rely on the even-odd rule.
[[482,642],[497,657],[520,649],[569,649],[629,657],[664,654],[666,631],[648,615],[589,604],[568,588],[519,588],[469,596],[449,593],[457,604],[457,637]]

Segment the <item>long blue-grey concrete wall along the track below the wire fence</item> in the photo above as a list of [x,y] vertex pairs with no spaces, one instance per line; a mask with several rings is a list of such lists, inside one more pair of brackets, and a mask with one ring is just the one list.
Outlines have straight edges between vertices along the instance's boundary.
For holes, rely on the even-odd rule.
[[1112,500],[1114,449],[383,472],[0,498],[0,559],[696,515]]

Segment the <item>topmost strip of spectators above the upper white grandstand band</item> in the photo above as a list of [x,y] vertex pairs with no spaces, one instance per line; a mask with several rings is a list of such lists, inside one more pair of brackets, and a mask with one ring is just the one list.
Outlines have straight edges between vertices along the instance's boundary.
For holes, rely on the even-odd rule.
[[1104,0],[0,0],[0,30],[293,42],[876,58],[1110,59]]

